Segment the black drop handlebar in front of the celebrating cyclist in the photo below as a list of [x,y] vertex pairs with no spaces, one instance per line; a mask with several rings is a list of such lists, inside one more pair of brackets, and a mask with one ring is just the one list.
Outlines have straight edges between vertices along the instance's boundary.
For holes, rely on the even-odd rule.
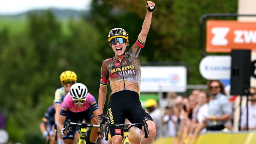
[[144,132],[145,132],[145,138],[148,138],[149,136],[149,132],[148,132],[148,124],[146,122],[146,120],[143,120],[143,123],[124,123],[124,124],[110,124],[109,122],[107,122],[106,124],[106,130],[105,130],[105,140],[108,140],[108,132],[109,132],[109,127],[113,127],[113,126],[118,126],[119,128],[123,129],[123,130],[127,130],[125,128],[123,128],[122,126],[128,126],[130,125],[129,128],[132,128],[132,126],[140,126],[143,125],[144,126]]

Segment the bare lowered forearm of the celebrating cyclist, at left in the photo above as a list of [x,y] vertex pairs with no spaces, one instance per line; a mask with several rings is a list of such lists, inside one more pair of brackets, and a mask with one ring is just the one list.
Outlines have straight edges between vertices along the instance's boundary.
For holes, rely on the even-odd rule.
[[103,114],[103,108],[104,108],[104,104],[107,97],[106,95],[107,95],[107,87],[100,85],[99,99],[98,99],[98,105],[99,105],[98,115]]

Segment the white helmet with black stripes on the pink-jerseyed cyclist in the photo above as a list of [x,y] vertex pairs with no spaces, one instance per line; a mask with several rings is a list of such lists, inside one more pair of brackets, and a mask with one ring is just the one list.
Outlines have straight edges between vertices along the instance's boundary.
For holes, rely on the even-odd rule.
[[72,99],[78,99],[78,100],[86,99],[87,94],[88,94],[88,89],[82,83],[75,83],[70,88],[70,95]]

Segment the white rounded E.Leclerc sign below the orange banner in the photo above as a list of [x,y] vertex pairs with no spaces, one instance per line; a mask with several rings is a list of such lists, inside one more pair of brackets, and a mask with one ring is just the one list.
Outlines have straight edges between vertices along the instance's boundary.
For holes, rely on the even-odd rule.
[[199,65],[201,75],[207,80],[230,79],[231,56],[206,56]]

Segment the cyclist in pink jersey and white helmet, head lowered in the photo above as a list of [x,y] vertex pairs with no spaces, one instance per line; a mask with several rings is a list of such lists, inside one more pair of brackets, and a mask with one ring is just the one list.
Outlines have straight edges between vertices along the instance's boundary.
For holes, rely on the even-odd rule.
[[[94,96],[92,96],[87,87],[82,83],[75,83],[71,86],[70,92],[65,96],[57,125],[61,132],[64,144],[74,144],[75,126],[70,126],[68,131],[65,131],[63,124],[71,120],[71,122],[78,122],[85,119],[90,124],[100,124],[98,121],[98,105]],[[96,116],[96,118],[95,118]],[[98,138],[99,128],[92,128],[90,134],[90,144],[95,144]]]

